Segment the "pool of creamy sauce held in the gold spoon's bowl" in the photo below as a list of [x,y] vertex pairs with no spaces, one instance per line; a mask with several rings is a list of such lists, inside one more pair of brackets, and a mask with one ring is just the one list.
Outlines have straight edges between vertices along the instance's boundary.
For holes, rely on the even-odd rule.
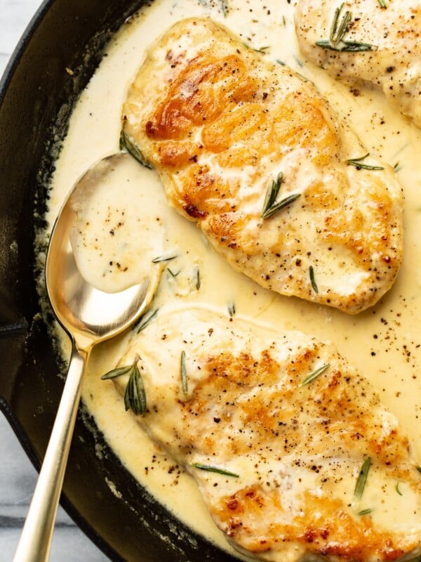
[[77,266],[105,292],[159,275],[156,257],[163,254],[165,237],[159,209],[165,200],[159,192],[150,196],[141,171],[130,155],[105,160],[83,176],[83,188],[72,195],[77,222],[70,240]]

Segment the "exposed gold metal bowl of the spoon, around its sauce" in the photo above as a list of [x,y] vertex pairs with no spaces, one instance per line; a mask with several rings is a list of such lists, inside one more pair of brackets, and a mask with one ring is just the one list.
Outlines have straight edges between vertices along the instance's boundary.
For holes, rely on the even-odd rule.
[[51,233],[46,256],[48,298],[60,324],[80,348],[109,339],[133,324],[152,299],[154,280],[145,279],[120,292],[103,292],[87,282],[79,272],[70,243],[76,225],[76,202],[83,193],[95,190],[117,167],[133,159],[127,153],[106,157],[76,182]]

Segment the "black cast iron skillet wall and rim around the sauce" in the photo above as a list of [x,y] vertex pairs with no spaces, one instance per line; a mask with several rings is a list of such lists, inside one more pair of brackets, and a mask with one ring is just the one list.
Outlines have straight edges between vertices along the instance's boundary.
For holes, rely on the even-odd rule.
[[[48,197],[53,138],[65,135],[72,103],[110,34],[142,3],[45,1],[0,84],[0,407],[37,469],[63,384],[58,377],[63,365],[48,336],[48,319],[40,314],[35,283],[34,232]],[[155,502],[90,426],[93,421],[80,414],[62,505],[109,558],[234,562]],[[95,455],[98,442],[102,459]]]

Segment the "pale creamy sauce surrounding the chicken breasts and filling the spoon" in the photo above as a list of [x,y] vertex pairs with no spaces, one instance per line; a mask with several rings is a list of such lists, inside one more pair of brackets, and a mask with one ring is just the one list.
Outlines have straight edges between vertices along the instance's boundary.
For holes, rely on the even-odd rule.
[[[135,276],[142,276],[145,269],[135,270],[132,266],[137,261],[135,256],[145,249],[142,254],[147,256],[143,261],[145,268],[154,258],[173,258],[161,262],[164,265],[161,285],[152,303],[158,314],[172,308],[203,304],[227,315],[235,310],[236,315],[279,330],[299,329],[323,341],[332,341],[340,353],[373,382],[382,402],[399,418],[409,436],[415,459],[421,464],[421,330],[418,325],[421,318],[421,166],[417,160],[421,154],[421,131],[392,110],[382,93],[340,84],[323,70],[306,63],[295,39],[293,3],[230,0],[225,17],[221,6],[216,0],[156,0],[123,25],[70,120],[69,133],[53,177],[49,223],[53,223],[74,181],[98,159],[119,150],[121,105],[145,56],[145,48],[181,18],[208,15],[223,22],[248,45],[262,51],[262,56],[268,60],[286,63],[314,81],[333,108],[346,117],[370,154],[396,165],[406,208],[405,256],[394,287],[377,306],[356,316],[262,289],[235,273],[210,248],[194,223],[166,205],[154,171],[138,164],[126,177],[124,195],[112,189],[107,195],[95,195],[98,202],[88,209],[83,206],[85,210],[79,216],[79,223],[81,226],[89,223],[90,228],[81,228],[79,242],[75,242],[76,247],[79,244],[79,263],[83,264],[81,267],[87,276],[93,275],[91,282],[105,290],[116,290],[123,268],[115,264],[121,265],[125,256],[131,256],[128,270],[135,271]],[[121,222],[122,206],[125,212],[130,211],[131,218],[124,221],[124,227],[119,226],[116,236],[114,226]],[[106,218],[109,218],[108,223]],[[95,244],[98,232],[101,241]],[[100,251],[95,251],[95,245]],[[121,249],[125,250],[123,255]],[[109,266],[110,262],[113,266]],[[127,282],[126,277],[123,278]],[[210,540],[230,549],[210,520],[192,479],[182,469],[172,468],[174,462],[145,437],[131,412],[125,412],[114,385],[100,380],[124,353],[130,336],[94,351],[83,389],[84,403],[128,471],[176,516]],[[63,346],[66,346],[65,339]],[[159,344],[156,353],[159,353]],[[115,490],[112,483],[110,488],[124,496],[124,490]],[[367,493],[375,497],[377,490],[368,488]],[[397,502],[400,496],[396,490],[390,493],[396,495],[394,518],[399,525],[401,515]],[[187,495],[189,502],[185,502]]]

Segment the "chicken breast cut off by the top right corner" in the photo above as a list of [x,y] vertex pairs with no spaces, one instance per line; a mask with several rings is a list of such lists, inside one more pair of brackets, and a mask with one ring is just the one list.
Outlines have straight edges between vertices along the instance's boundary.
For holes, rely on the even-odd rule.
[[295,28],[310,60],[334,77],[380,86],[421,126],[419,0],[298,0]]

